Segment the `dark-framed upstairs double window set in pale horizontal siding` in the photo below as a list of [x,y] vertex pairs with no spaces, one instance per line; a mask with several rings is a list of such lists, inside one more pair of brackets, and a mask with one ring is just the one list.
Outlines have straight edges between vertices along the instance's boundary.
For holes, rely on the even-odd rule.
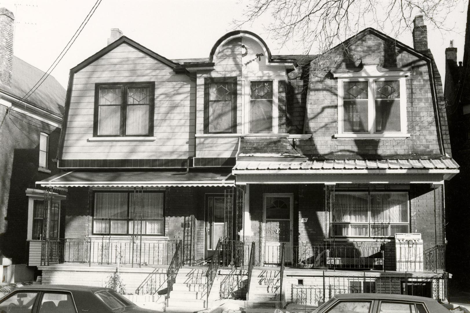
[[155,82],[95,85],[94,136],[153,136]]

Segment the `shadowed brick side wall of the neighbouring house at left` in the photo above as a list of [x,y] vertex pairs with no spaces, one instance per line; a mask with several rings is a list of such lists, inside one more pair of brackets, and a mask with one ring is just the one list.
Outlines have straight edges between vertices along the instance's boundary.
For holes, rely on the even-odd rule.
[[[0,105],[0,115],[6,106]],[[39,136],[49,134],[48,169],[38,171]],[[10,112],[0,129],[0,251],[14,264],[26,261],[26,229],[28,222],[28,197],[26,188],[38,188],[36,181],[60,172],[55,162],[55,152],[60,129],[16,111]]]

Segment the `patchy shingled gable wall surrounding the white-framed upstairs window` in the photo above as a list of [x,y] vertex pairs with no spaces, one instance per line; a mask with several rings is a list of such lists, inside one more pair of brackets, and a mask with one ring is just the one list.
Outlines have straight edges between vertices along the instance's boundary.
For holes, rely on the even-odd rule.
[[[384,157],[396,155],[439,155],[430,72],[428,64],[398,48],[394,42],[366,32],[356,41],[348,42],[348,50],[333,50],[320,59],[319,68],[311,67],[308,87],[305,132],[313,139],[300,140],[298,148],[305,154],[333,157]],[[337,80],[330,69],[358,68],[360,62],[379,63],[384,67],[410,67],[406,78],[407,132],[406,139],[334,139],[338,132]],[[443,125],[445,126],[445,125]]]

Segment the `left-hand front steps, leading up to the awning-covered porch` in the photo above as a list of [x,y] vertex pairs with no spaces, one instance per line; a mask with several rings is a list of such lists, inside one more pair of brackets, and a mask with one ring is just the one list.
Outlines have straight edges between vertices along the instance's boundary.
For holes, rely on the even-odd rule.
[[176,275],[166,312],[196,312],[206,307],[205,268],[182,267]]

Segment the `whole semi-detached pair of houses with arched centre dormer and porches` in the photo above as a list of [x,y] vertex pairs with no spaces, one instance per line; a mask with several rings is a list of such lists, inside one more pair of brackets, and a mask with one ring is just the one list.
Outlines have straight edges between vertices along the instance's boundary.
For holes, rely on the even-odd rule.
[[321,56],[234,31],[169,60],[112,34],[71,69],[66,173],[38,182],[68,189],[43,282],[103,284],[119,264],[128,292],[168,287],[170,306],[447,297],[459,166],[422,16],[415,48],[368,28]]

